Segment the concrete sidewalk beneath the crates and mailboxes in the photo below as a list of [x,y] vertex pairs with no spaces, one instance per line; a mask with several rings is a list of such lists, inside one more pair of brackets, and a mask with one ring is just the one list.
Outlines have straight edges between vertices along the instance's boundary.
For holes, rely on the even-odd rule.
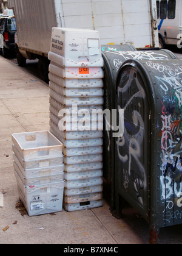
[[[0,244],[147,244],[149,225],[127,207],[122,219],[104,206],[55,215],[21,215],[13,174],[12,133],[49,130],[49,88],[0,57]],[[106,187],[107,188],[107,187]],[[8,229],[5,230],[5,228]],[[3,231],[3,229],[5,231]],[[161,243],[182,243],[181,226],[161,229]]]

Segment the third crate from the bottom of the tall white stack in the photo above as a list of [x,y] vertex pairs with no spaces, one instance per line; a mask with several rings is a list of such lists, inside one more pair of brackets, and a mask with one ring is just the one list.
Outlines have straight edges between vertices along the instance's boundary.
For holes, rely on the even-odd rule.
[[79,194],[103,193],[103,185],[84,188],[65,188],[64,196],[77,196]]

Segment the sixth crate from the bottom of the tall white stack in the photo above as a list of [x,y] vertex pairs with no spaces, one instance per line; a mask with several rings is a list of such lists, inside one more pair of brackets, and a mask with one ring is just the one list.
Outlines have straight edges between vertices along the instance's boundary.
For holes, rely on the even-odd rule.
[[92,171],[96,169],[103,169],[103,162],[93,162],[93,163],[79,163],[73,165],[65,165],[65,172],[82,172],[82,171]]

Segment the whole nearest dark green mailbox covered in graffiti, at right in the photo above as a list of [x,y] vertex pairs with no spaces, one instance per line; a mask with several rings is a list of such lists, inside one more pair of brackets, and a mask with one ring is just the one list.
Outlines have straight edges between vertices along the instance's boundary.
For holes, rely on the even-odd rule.
[[128,60],[116,81],[124,135],[115,141],[116,212],[122,196],[151,227],[182,224],[182,62]]

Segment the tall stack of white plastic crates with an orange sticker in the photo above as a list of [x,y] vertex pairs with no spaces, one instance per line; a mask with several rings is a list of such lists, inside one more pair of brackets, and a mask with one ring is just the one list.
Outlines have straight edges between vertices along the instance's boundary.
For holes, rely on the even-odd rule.
[[[99,33],[53,28],[49,60],[50,132],[64,145],[64,208],[72,212],[101,207],[103,59]],[[99,110],[101,115],[91,115]]]

